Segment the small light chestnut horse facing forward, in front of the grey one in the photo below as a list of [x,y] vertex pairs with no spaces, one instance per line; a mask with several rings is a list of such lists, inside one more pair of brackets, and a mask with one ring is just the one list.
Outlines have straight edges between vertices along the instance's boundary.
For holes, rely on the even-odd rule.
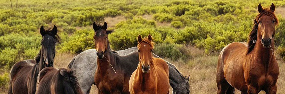
[[168,64],[152,56],[152,37],[138,37],[139,65],[133,72],[129,90],[131,94],[169,94]]

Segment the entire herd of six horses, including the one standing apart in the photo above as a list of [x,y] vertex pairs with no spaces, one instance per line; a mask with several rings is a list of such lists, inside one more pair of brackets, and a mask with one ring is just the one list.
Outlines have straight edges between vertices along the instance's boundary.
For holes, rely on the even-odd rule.
[[[270,9],[258,5],[259,14],[248,43],[233,42],[220,53],[217,93],[276,94],[279,67],[274,56],[274,34],[278,19]],[[8,94],[89,94],[94,84],[99,94],[189,94],[189,76],[152,53],[151,35],[137,37],[137,47],[112,51],[107,23],[93,23],[95,49],[74,57],[67,68],[54,68],[57,27],[40,27],[41,48],[34,60],[22,60],[10,71]]]

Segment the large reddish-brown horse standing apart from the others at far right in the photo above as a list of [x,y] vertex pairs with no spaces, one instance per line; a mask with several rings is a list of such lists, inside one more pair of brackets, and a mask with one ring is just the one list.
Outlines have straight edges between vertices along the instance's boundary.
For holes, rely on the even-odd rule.
[[273,3],[270,9],[263,9],[259,3],[248,43],[230,43],[221,51],[217,65],[218,94],[234,93],[235,89],[242,94],[257,94],[262,90],[276,94],[279,67],[273,37],[278,19],[274,10]]

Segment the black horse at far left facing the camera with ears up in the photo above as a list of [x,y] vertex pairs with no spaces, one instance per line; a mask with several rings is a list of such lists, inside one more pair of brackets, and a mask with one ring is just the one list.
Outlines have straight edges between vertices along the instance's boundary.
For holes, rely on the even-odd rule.
[[53,66],[55,45],[60,41],[57,28],[47,30],[40,27],[41,48],[34,60],[22,60],[15,63],[9,75],[8,94],[34,94],[38,73],[45,67]]

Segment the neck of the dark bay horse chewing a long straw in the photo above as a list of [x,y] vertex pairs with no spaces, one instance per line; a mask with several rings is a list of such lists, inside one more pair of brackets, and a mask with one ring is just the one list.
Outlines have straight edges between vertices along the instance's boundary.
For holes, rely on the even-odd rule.
[[[107,49],[104,52],[105,54],[104,54],[103,59],[97,59],[97,68],[98,68],[97,70],[100,73],[107,73],[108,72],[107,70],[113,71],[113,68],[114,70],[116,70],[115,68],[117,66],[116,58],[111,51],[109,40],[107,40]],[[113,66],[113,68],[111,67],[109,63]],[[112,72],[112,73],[115,73],[115,72]]]

